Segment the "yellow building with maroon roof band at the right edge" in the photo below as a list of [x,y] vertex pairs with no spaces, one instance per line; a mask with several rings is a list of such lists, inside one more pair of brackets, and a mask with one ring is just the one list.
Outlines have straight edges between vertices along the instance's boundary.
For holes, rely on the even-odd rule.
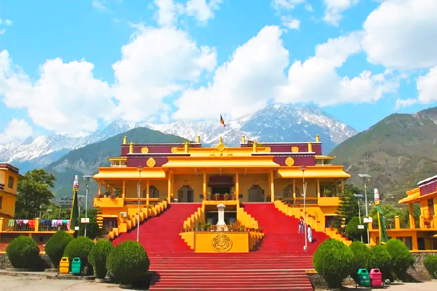
[[[405,221],[395,217],[394,223],[387,223],[387,234],[397,238],[414,251],[437,250],[437,175],[420,181],[417,188],[406,192],[406,197],[399,200],[400,204],[407,204],[409,218]],[[420,205],[419,221],[413,216],[413,204]],[[370,229],[372,244],[379,242],[377,224]]]

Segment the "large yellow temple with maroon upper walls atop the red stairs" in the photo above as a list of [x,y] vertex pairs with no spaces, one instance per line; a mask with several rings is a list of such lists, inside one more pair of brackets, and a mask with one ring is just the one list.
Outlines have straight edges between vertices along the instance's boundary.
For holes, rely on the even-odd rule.
[[329,226],[350,175],[332,164],[335,157],[322,155],[319,135],[314,143],[261,144],[242,136],[239,147],[225,144],[220,138],[217,146],[204,147],[200,137],[196,143],[134,144],[125,136],[121,155],[108,158],[111,166],[94,176],[99,183],[94,206],[101,210],[101,224],[113,230],[110,237],[136,225],[138,200],[140,220],[171,203],[202,204],[181,230],[198,219],[214,225],[219,203],[226,205],[227,224],[237,220],[249,228],[255,222],[239,210],[240,203],[274,202],[299,217],[305,183],[308,224],[340,238]]

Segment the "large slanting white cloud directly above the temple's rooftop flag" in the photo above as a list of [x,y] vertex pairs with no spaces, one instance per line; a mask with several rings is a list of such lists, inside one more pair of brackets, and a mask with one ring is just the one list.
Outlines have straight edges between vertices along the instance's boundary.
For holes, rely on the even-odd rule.
[[209,119],[219,113],[232,118],[263,108],[285,84],[288,51],[277,26],[266,26],[237,48],[232,60],[217,68],[214,83],[188,89],[176,100],[173,118]]

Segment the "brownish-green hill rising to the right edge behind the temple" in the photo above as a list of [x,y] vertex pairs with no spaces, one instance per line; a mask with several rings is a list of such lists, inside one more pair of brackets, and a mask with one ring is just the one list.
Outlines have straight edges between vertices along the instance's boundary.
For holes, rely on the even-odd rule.
[[[338,145],[331,153],[363,188],[357,174],[372,176],[386,202],[396,204],[420,180],[437,174],[437,107],[415,114],[391,114]],[[369,192],[368,192],[369,193]]]

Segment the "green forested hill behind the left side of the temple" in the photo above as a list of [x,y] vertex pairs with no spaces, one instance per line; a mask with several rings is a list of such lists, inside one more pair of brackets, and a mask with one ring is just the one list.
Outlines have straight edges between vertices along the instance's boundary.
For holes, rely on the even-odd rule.
[[[75,175],[93,175],[98,172],[98,167],[110,165],[107,158],[118,157],[121,153],[123,136],[134,143],[183,143],[182,137],[164,134],[160,131],[147,128],[136,128],[125,133],[120,133],[107,140],[84,146],[70,151],[58,161],[49,164],[45,169],[56,176],[54,193],[58,198],[72,195],[72,185]],[[85,187],[82,179],[79,180],[80,195],[84,194]],[[97,185],[90,185],[90,195],[95,194]]]

